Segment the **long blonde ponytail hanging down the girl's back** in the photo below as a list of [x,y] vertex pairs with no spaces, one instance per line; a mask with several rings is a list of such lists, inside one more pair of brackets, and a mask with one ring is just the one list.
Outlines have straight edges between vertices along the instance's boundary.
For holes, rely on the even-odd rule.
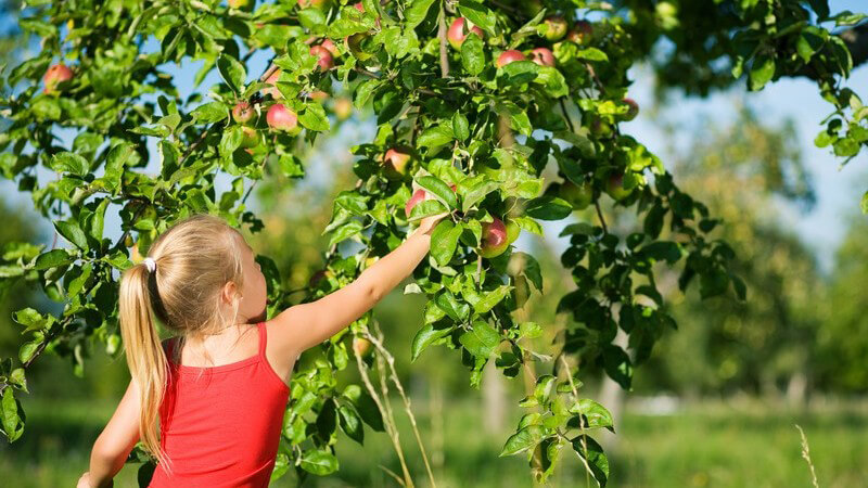
[[166,467],[168,458],[161,447],[157,420],[168,376],[168,362],[151,308],[152,296],[156,293],[155,272],[149,271],[144,264],[139,264],[128,269],[120,279],[120,336],[130,376],[139,390],[140,440]]

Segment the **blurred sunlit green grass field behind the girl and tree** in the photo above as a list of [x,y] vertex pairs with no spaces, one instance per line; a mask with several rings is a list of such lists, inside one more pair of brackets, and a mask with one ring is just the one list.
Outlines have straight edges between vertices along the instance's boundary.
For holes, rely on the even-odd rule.
[[[91,442],[113,404],[58,403],[25,398],[28,426],[15,444],[0,446],[0,479],[15,487],[75,486],[87,468]],[[487,436],[475,401],[447,403],[442,467],[437,486],[533,486],[522,457],[498,458],[508,433]],[[422,435],[431,438],[423,401],[417,401]],[[396,403],[396,414],[400,407]],[[403,418],[399,418],[404,421]],[[510,421],[511,422],[511,421]],[[703,402],[667,415],[641,415],[628,410],[618,425],[618,454],[611,460],[611,487],[809,487],[810,475],[801,458],[799,423],[807,435],[820,487],[868,486],[868,404],[848,402],[791,412],[757,401],[738,407]],[[378,464],[398,471],[385,435],[366,431],[365,447],[341,439],[341,471],[311,478],[306,487],[397,486]],[[417,485],[429,486],[409,424],[403,422],[401,442]],[[429,454],[433,447],[426,445]],[[436,454],[434,454],[436,455]],[[562,468],[549,486],[585,486],[575,454],[563,451]],[[126,466],[116,487],[135,487],[136,465]],[[592,481],[591,481],[592,483]],[[271,486],[297,486],[292,472]],[[592,485],[593,486],[593,485]]]

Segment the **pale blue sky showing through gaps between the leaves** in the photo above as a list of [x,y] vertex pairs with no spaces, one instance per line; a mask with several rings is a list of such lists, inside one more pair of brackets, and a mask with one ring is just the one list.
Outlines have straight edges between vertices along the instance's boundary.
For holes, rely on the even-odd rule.
[[[841,10],[859,11],[865,10],[864,2],[856,0],[831,1],[832,12]],[[0,25],[4,23],[0,22]],[[148,50],[155,49],[156,42],[152,42]],[[269,52],[260,52],[254,55],[247,70],[251,78],[266,69],[266,64],[270,59]],[[176,85],[179,88],[181,98],[186,98],[192,90],[192,78],[201,62],[186,61],[181,66],[164,66],[164,70],[175,76]],[[636,99],[640,105],[650,106],[652,100],[652,80],[644,75],[641,67],[631,72],[631,78],[637,79],[633,85],[630,97]],[[215,73],[203,81],[200,90],[218,82]],[[868,97],[868,68],[865,66],[857,68],[851,76],[847,86],[853,88],[864,98]],[[743,81],[735,87],[736,92],[743,92]],[[847,220],[858,213],[860,195],[868,188],[868,168],[866,168],[866,154],[863,152],[857,158],[853,159],[844,169],[839,168],[840,160],[835,158],[828,149],[817,149],[813,140],[820,130],[819,121],[830,112],[831,105],[824,101],[817,90],[816,85],[807,79],[783,79],[766,86],[758,93],[751,93],[748,102],[756,108],[762,119],[771,126],[778,126],[786,118],[790,117],[795,121],[799,132],[799,140],[803,150],[803,157],[806,166],[813,175],[815,191],[817,193],[817,205],[807,214],[800,214],[793,208],[784,208],[784,224],[792,227],[803,240],[815,251],[819,262],[827,268],[832,262],[834,248],[840,243],[846,231]],[[735,116],[733,93],[716,93],[707,99],[686,99],[674,97],[671,105],[664,110],[663,116],[667,118],[677,117],[681,123],[690,125],[698,120],[702,114],[711,115],[715,119],[728,121]],[[868,102],[868,99],[865,99]],[[636,120],[624,127],[626,132],[631,133],[639,141],[643,142],[652,152],[660,155],[664,162],[667,159],[667,151],[663,146],[664,138],[647,114],[641,114]],[[62,140],[68,147],[74,132],[63,131]],[[373,137],[373,121],[368,117],[358,125],[346,125],[337,132],[333,141],[323,144],[316,151],[315,159],[341,159],[349,160],[346,152],[348,145],[369,140]],[[684,142],[684,141],[682,141]],[[152,154],[156,155],[155,141],[150,138],[149,142]],[[324,165],[319,165],[322,167]],[[318,165],[312,160],[308,167],[316,168]],[[158,170],[158,162],[152,160],[149,171]],[[40,182],[52,178],[53,174],[40,168]],[[304,184],[326,184],[328,171],[310,171]],[[228,188],[229,178],[219,180],[221,188]],[[16,202],[22,211],[33,211],[29,194],[20,194],[16,187],[8,181],[0,180],[0,194],[8,195],[8,201]],[[701,200],[701,195],[697,195]],[[252,198],[253,200],[253,198]],[[248,202],[250,206],[256,208],[255,202]],[[114,210],[114,211],[113,211]],[[106,216],[106,235],[115,237],[120,234],[117,208],[110,207]],[[36,219],[41,219],[34,213]],[[51,224],[43,221],[44,235],[48,242],[51,236]],[[320,232],[320,230],[316,230]],[[556,232],[554,229],[551,230]],[[525,237],[523,237],[524,240]],[[518,243],[523,247],[522,241]]]

